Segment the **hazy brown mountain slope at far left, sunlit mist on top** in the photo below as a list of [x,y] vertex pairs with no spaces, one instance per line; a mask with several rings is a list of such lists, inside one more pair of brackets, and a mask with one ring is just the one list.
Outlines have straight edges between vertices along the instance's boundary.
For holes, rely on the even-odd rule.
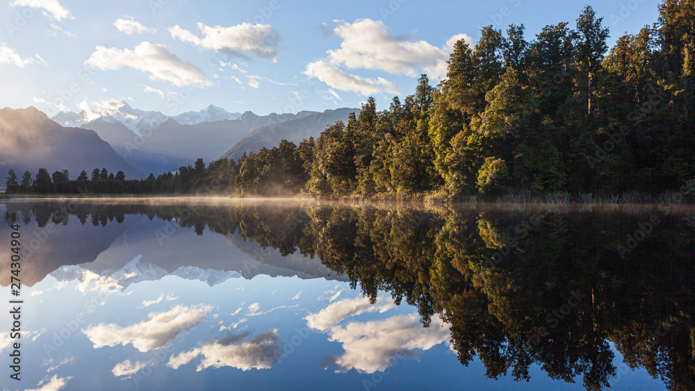
[[33,107],[0,110],[0,165],[0,178],[9,169],[20,178],[26,170],[35,176],[40,167],[49,173],[68,169],[71,178],[97,167],[122,171],[126,178],[142,178],[142,172],[126,163],[95,131],[64,128]]

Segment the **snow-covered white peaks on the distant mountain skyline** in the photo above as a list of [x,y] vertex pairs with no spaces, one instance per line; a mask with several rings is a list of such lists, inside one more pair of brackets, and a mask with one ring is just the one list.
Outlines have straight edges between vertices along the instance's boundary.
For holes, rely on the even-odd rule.
[[213,105],[200,111],[189,111],[174,117],[164,115],[158,111],[132,108],[124,101],[104,102],[99,107],[83,102],[79,106],[83,109],[79,114],[71,111],[61,111],[51,119],[62,126],[73,128],[92,122],[95,119],[102,119],[106,122],[120,122],[133,133],[142,135],[143,131],[152,131],[166,122],[167,119],[173,119],[182,125],[195,125],[202,122],[230,121],[241,117],[240,113],[229,113],[227,110]]

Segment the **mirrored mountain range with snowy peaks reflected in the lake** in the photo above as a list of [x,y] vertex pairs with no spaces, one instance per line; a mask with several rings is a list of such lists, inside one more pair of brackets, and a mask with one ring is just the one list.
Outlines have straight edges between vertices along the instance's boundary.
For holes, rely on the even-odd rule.
[[[143,218],[148,210],[156,208],[105,207],[92,203],[76,203],[73,207],[76,208],[74,215],[68,215],[66,220],[61,210],[70,210],[67,203],[8,204],[8,210],[21,210],[27,217],[23,222],[23,235],[41,242],[24,257],[27,265],[31,265],[22,270],[25,285],[34,285],[54,271],[52,275],[60,280],[81,278],[83,281],[90,272],[95,274],[90,278],[108,279],[122,287],[170,274],[208,285],[232,277],[253,278],[259,274],[347,281],[344,276],[332,273],[316,257],[298,254],[283,257],[279,250],[261,249],[259,244],[243,240],[238,233],[198,235],[192,229],[198,225],[190,224],[192,220],[188,220],[188,228],[182,228],[176,222]],[[165,219],[171,218],[174,209],[159,208]],[[9,237],[9,229],[7,225],[0,226],[0,234]],[[0,251],[4,249],[3,244],[0,243]],[[201,249],[205,249],[204,257],[200,256]],[[79,266],[63,267],[72,265]],[[9,272],[9,264],[0,265],[0,275]],[[2,283],[9,283],[9,278]]]

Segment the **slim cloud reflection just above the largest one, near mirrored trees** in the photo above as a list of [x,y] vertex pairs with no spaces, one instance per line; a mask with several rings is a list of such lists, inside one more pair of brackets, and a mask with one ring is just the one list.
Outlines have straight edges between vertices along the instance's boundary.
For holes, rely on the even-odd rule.
[[388,299],[379,299],[377,303],[370,304],[368,298],[359,297],[336,301],[316,314],[310,313],[306,315],[304,319],[306,319],[307,326],[315,328],[316,330],[325,331],[348,317],[373,311],[383,313],[391,308],[395,308],[395,304]]

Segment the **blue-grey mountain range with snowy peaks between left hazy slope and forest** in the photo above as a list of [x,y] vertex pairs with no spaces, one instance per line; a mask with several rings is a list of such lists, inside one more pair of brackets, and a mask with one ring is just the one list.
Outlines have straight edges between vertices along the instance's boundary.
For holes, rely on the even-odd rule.
[[351,112],[359,110],[339,108],[323,113],[300,111],[259,116],[250,111],[229,113],[208,106],[197,112],[167,116],[131,108],[121,101],[98,111],[61,112],[52,119],[63,126],[95,131],[118,156],[147,176],[193,165],[197,158],[205,163],[218,158],[238,160],[244,152],[275,147],[282,139],[299,144],[304,138],[318,138],[329,124],[347,121]]

